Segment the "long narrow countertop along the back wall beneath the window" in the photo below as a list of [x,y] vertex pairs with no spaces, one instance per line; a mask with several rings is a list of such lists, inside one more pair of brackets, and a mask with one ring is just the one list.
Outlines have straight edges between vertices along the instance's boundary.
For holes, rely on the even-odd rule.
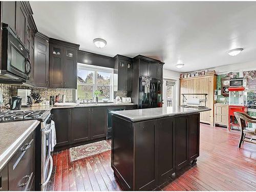
[[62,108],[85,108],[85,107],[96,107],[96,106],[126,106],[126,105],[135,105],[134,103],[93,103],[93,104],[77,104],[77,105],[68,105],[68,106],[32,106],[31,108],[22,108],[22,111],[30,111],[30,110],[52,110],[52,109],[62,109]]

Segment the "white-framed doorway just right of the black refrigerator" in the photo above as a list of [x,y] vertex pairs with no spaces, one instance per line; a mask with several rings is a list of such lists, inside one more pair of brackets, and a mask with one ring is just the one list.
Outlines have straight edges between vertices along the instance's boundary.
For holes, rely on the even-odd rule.
[[176,105],[176,80],[163,79],[163,106]]

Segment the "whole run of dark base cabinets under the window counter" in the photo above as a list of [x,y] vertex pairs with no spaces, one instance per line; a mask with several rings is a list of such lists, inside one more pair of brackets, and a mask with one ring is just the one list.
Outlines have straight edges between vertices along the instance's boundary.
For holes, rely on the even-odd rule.
[[104,106],[53,109],[56,148],[106,137],[106,109]]

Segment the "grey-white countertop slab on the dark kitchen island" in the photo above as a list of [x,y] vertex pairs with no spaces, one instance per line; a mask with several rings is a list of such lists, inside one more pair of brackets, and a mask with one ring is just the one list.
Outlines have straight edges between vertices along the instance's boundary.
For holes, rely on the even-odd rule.
[[172,106],[169,106],[164,108],[113,111],[111,113],[130,119],[131,121],[141,121],[141,120],[156,119],[156,118],[162,118],[162,117],[195,114],[195,113],[210,111],[210,110],[211,110],[210,108],[197,109],[197,108],[183,108],[181,106],[173,108]]

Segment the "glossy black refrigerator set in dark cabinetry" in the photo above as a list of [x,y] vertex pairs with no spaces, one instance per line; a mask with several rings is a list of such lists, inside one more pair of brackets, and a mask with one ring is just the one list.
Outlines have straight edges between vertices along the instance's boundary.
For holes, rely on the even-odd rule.
[[139,109],[162,107],[162,81],[151,77],[139,78]]

